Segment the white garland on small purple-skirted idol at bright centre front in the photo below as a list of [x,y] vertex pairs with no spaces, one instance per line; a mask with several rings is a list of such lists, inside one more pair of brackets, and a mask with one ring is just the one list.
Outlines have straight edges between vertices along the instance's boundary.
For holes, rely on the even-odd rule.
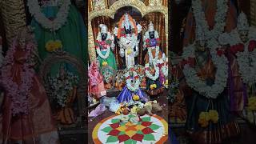
[[[126,85],[127,85],[127,88],[130,91],[136,92],[139,89],[139,85],[141,84],[141,82],[140,82],[139,75],[137,74],[137,72],[133,71],[133,73],[134,73],[135,82],[131,82],[132,79],[129,78],[130,77],[130,71],[126,72],[126,74],[125,74],[125,76],[126,76]],[[138,77],[138,78],[135,78],[135,77]]]

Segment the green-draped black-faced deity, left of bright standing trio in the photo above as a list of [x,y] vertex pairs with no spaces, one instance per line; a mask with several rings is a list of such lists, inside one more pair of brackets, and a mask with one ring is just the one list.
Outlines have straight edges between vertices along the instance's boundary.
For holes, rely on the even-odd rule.
[[95,46],[100,68],[102,69],[103,66],[110,66],[113,70],[118,70],[118,66],[112,52],[115,46],[114,36],[110,34],[106,25],[100,24],[99,27],[101,28],[101,31],[98,32]]

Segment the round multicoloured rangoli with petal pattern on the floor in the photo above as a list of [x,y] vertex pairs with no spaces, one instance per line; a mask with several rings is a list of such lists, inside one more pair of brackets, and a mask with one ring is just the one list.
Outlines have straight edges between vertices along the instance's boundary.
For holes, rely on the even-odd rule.
[[158,115],[144,115],[137,125],[121,122],[119,115],[113,115],[98,122],[93,130],[93,140],[96,144],[162,144],[167,138],[167,123]]

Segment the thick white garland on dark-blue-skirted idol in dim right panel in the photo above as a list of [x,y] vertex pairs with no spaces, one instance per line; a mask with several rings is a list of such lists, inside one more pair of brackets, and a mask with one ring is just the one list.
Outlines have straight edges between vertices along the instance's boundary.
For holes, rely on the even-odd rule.
[[[198,77],[197,71],[188,64],[184,66],[183,74],[185,75],[186,83],[191,88],[198,91],[199,94],[206,96],[206,98],[217,98],[218,94],[221,94],[226,87],[226,82],[228,78],[228,61],[224,54],[218,54],[217,41],[211,39],[210,42],[208,42],[208,47],[210,48],[210,56],[212,62],[217,68],[214,85],[206,85],[206,82],[202,81]],[[186,61],[189,61],[189,58],[195,58],[195,49],[196,48],[194,44],[185,47],[182,58]]]

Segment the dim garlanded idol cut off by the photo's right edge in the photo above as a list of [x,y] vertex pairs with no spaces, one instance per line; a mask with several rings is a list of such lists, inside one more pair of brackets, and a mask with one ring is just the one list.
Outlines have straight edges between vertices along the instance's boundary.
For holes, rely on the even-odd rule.
[[[229,51],[236,57],[238,72],[245,83],[244,88],[247,88],[246,94],[249,94],[248,103],[245,102],[247,109],[243,116],[256,124],[256,29],[254,26],[249,26],[246,14],[241,12],[238,15],[237,28],[229,34],[222,34],[219,39],[223,45],[230,45]],[[231,106],[238,105],[234,100],[231,102]]]

